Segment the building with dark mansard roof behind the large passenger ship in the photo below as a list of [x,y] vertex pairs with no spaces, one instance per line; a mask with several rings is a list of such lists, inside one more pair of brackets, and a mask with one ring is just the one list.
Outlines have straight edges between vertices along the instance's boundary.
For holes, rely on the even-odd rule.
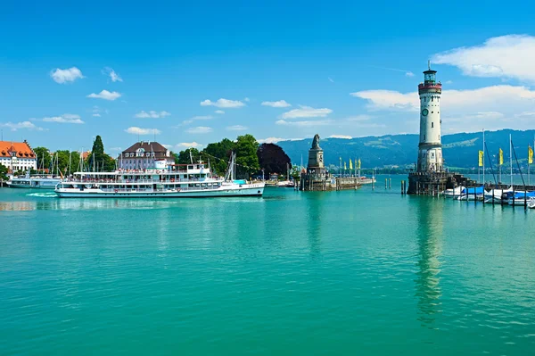
[[175,163],[171,152],[158,142],[140,141],[119,154],[119,169],[146,170],[153,168],[156,161],[164,167]]

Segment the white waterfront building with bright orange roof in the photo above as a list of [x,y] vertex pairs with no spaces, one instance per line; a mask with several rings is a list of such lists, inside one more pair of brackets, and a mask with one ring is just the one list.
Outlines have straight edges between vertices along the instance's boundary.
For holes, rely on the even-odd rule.
[[37,170],[37,157],[26,140],[0,141],[0,164],[11,172]]

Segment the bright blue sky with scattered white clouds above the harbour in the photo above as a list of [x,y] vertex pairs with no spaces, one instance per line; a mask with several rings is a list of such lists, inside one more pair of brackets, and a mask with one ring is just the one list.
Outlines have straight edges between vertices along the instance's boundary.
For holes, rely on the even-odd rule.
[[443,134],[533,128],[529,3],[78,3],[3,4],[5,140],[79,150],[101,135],[114,153],[138,133],[174,150],[416,133],[428,59]]

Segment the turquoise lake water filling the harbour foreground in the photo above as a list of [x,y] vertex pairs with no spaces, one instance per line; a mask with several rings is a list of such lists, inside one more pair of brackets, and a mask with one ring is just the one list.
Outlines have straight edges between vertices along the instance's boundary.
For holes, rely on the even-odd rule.
[[2,355],[527,355],[535,211],[373,192],[0,189]]

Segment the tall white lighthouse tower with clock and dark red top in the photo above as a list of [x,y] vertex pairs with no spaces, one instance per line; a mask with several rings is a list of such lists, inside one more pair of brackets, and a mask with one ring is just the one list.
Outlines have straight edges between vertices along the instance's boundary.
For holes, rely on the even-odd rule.
[[440,95],[442,84],[436,81],[436,70],[431,64],[424,71],[424,83],[418,85],[420,95],[420,143],[418,145],[418,172],[442,171],[442,144],[440,141]]

